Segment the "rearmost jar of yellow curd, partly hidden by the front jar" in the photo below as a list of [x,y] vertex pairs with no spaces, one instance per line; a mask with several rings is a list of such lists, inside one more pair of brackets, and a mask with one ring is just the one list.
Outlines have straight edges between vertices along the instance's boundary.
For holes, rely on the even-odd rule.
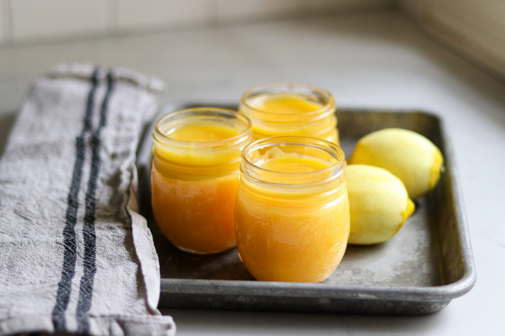
[[239,112],[252,122],[255,139],[307,136],[339,144],[336,104],[326,90],[299,83],[260,85],[246,91]]

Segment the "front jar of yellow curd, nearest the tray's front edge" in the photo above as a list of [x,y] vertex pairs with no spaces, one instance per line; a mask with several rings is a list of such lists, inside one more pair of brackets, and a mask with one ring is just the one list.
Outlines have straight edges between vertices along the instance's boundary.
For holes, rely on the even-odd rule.
[[235,240],[260,281],[322,282],[349,236],[343,151],[309,137],[273,137],[242,151]]

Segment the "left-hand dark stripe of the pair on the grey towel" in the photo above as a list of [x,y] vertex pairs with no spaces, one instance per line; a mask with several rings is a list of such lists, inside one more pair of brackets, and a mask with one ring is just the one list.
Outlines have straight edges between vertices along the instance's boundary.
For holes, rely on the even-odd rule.
[[56,330],[65,329],[65,310],[67,310],[72,290],[72,279],[75,276],[75,263],[77,260],[77,238],[75,234],[75,224],[77,223],[77,210],[79,208],[79,189],[81,185],[82,167],[84,164],[86,133],[91,130],[91,120],[93,114],[93,103],[96,86],[98,83],[98,69],[95,69],[91,77],[91,89],[89,90],[86,102],[86,114],[84,116],[84,126],[81,134],[76,138],[76,158],[72,182],[67,198],[67,213],[65,216],[65,228],[63,229],[63,268],[61,280],[58,283],[56,293],[56,303],[53,309],[52,318]]

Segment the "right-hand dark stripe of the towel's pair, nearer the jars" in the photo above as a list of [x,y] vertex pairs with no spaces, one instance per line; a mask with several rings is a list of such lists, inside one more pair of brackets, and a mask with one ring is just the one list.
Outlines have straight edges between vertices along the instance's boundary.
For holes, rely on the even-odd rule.
[[95,210],[96,210],[96,183],[100,171],[100,133],[107,122],[109,99],[114,88],[112,74],[107,74],[107,92],[100,108],[100,121],[98,128],[91,137],[91,170],[86,191],[86,209],[82,234],[84,238],[83,276],[79,289],[79,301],[77,303],[77,330],[81,333],[89,332],[89,318],[87,312],[91,307],[93,297],[94,275],[96,273],[96,234],[95,234]]

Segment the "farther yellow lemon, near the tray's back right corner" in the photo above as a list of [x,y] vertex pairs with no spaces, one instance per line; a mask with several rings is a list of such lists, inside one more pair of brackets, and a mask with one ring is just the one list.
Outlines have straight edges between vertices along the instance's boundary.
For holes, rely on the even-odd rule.
[[384,128],[361,138],[350,164],[381,167],[396,175],[416,199],[437,184],[443,164],[440,150],[412,130]]

